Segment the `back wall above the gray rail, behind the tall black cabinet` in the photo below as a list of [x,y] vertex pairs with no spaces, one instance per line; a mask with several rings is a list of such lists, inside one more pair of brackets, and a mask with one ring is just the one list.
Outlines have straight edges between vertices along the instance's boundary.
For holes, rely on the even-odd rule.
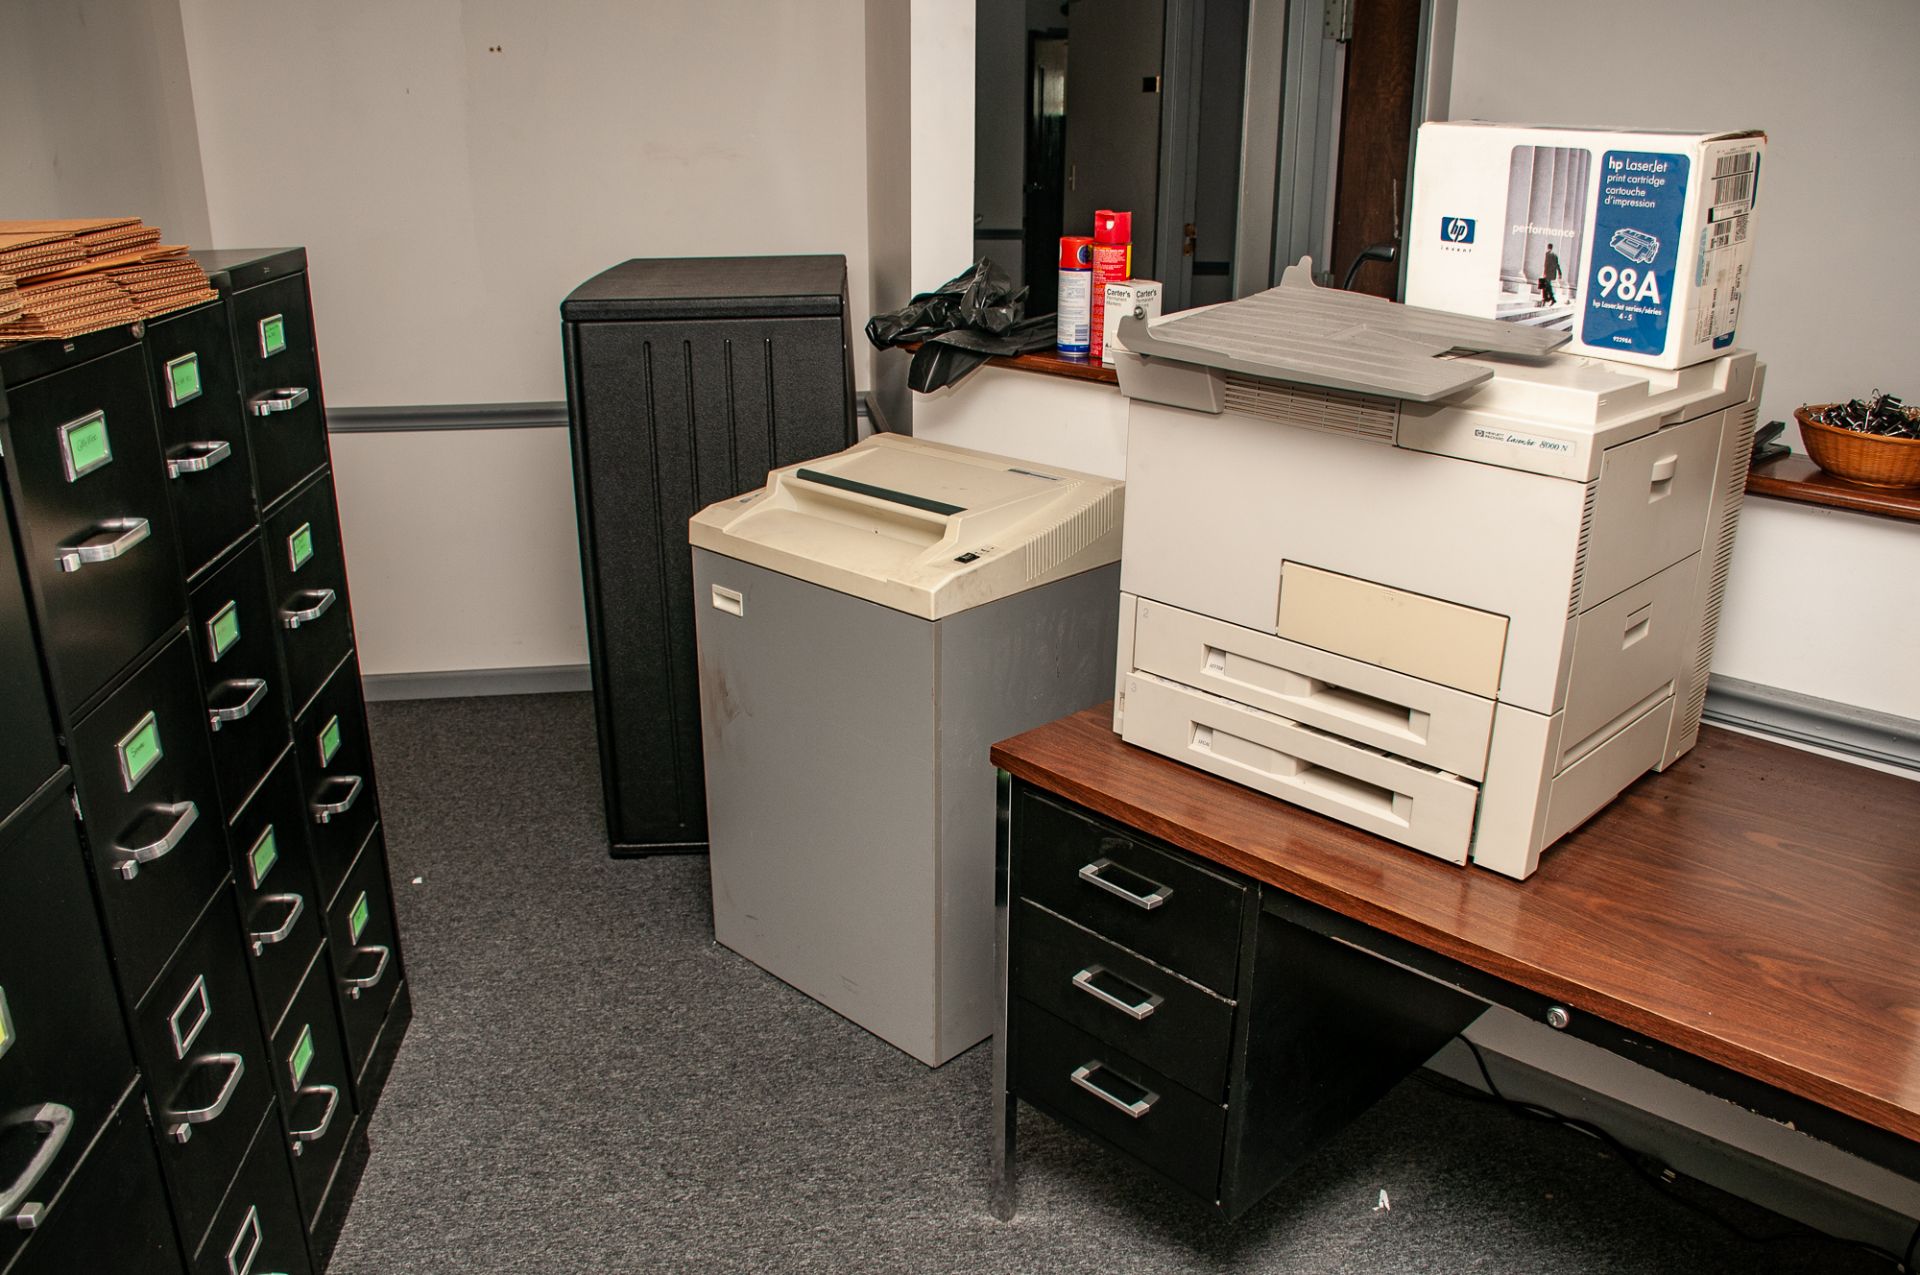
[[332,405],[559,399],[559,303],[628,257],[868,292],[862,0],[180,12],[213,236],[307,246]]

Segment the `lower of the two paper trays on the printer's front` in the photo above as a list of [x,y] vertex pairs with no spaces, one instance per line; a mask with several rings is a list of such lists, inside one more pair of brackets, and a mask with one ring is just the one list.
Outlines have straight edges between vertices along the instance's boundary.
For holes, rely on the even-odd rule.
[[1175,686],[1121,678],[1121,737],[1455,864],[1467,862],[1480,789],[1286,718]]

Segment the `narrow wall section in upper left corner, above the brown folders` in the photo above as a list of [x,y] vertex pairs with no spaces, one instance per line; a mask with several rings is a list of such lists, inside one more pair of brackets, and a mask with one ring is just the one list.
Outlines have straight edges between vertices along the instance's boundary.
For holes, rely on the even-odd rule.
[[0,21],[0,219],[138,215],[207,248],[173,0],[10,4]]

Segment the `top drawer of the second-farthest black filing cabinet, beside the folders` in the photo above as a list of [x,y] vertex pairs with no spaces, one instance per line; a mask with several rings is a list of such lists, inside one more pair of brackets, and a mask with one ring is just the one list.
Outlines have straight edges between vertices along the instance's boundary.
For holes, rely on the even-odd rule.
[[215,301],[150,321],[146,365],[180,563],[192,578],[255,518],[227,307]]

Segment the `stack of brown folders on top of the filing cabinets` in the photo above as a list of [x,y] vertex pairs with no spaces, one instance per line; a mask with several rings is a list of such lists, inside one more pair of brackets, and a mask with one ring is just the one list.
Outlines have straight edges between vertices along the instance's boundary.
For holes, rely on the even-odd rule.
[[0,221],[0,344],[67,338],[211,301],[207,273],[138,217]]

